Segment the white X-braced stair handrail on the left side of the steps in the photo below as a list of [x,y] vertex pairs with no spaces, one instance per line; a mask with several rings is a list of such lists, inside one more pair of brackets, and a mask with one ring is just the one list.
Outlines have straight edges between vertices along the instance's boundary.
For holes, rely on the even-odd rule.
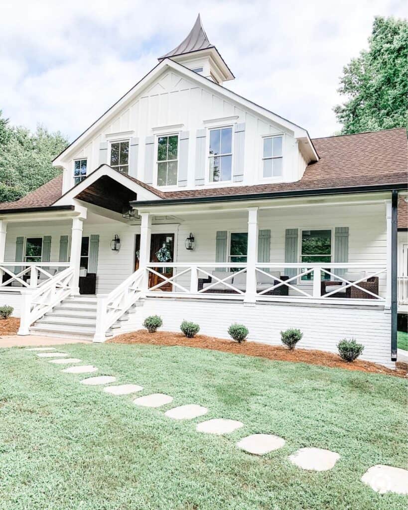
[[40,317],[51,311],[63,299],[68,297],[72,289],[74,269],[67,267],[50,278],[35,290],[22,289],[20,327],[17,335],[30,335],[30,326]]

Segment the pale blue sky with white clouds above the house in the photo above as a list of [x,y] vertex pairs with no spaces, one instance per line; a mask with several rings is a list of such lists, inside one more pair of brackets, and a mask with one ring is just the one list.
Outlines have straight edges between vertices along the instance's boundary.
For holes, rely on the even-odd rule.
[[227,88],[309,130],[339,129],[342,67],[374,16],[403,0],[21,0],[0,2],[0,109],[70,140],[179,44],[197,13],[236,79]]

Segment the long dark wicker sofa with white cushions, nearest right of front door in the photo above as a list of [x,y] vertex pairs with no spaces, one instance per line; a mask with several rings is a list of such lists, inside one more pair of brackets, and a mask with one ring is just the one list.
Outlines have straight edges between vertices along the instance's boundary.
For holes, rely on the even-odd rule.
[[[227,276],[232,276],[234,273],[231,271],[213,271],[213,276],[218,277],[219,279],[226,278]],[[278,272],[270,273],[271,276],[276,276],[282,281],[286,281],[289,279],[289,276],[281,276]],[[277,285],[279,283],[278,280],[272,279],[270,276],[257,272],[257,292],[262,292],[263,290],[272,287],[273,285]],[[198,290],[202,290],[203,293],[212,293],[212,294],[238,294],[237,291],[227,287],[226,285],[218,282],[216,285],[213,285],[213,278],[209,276],[208,278],[198,278]],[[233,285],[241,292],[245,292],[246,289],[246,273],[239,273],[236,276],[232,276],[229,278],[226,283]],[[208,289],[208,290],[206,290]],[[280,287],[270,290],[262,294],[263,296],[287,296],[289,294],[289,287],[286,285],[281,285]]]

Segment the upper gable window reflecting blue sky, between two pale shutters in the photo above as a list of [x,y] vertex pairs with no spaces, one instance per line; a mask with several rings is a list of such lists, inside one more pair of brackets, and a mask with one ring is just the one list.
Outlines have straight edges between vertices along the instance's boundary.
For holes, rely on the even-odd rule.
[[233,161],[233,129],[210,130],[210,183],[231,181]]

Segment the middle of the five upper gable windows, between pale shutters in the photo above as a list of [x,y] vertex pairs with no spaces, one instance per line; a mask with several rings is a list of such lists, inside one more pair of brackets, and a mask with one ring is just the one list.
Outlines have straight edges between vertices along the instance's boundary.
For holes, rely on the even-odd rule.
[[176,186],[179,166],[179,135],[159,136],[157,140],[157,185]]

